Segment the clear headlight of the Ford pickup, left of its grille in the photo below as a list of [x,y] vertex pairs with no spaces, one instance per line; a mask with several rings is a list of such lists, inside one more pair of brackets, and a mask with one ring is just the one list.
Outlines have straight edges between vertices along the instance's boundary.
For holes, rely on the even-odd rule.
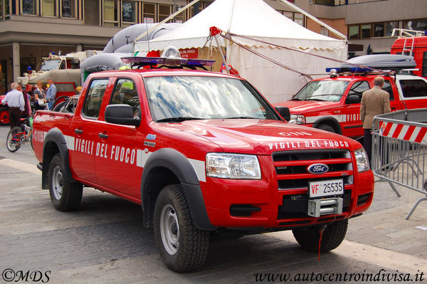
[[221,179],[261,179],[258,158],[246,154],[207,154],[206,175]]

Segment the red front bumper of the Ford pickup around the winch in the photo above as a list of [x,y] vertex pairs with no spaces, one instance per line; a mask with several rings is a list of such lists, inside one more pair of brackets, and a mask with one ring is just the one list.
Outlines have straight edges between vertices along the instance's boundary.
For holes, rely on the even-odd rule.
[[[276,171],[273,157],[258,156],[261,180],[231,180],[207,178],[201,185],[206,210],[212,225],[226,228],[293,228],[315,223],[347,219],[366,211],[374,195],[374,175],[371,171],[352,172],[352,182],[346,184],[342,214],[318,218],[307,215],[307,187],[280,189],[280,184],[292,182]],[[352,164],[354,157],[352,154]],[[347,171],[348,172],[348,171]],[[339,173],[339,172],[337,172]],[[292,177],[292,175],[290,175]],[[331,177],[332,179],[332,177]],[[300,186],[297,182],[297,187]]]

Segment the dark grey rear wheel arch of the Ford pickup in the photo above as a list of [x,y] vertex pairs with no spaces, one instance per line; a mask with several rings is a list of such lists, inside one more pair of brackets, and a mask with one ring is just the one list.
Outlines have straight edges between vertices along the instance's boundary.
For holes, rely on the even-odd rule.
[[75,182],[73,174],[70,169],[70,160],[68,158],[67,142],[64,135],[58,128],[52,128],[46,134],[43,142],[43,163],[42,163],[42,175],[41,175],[41,187],[42,189],[49,189],[48,172],[51,165],[52,158],[60,153],[60,157],[63,162],[63,179],[64,182]]

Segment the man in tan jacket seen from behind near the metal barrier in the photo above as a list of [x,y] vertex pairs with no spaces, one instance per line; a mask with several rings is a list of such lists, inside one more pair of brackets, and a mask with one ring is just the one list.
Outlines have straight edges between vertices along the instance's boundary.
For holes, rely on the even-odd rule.
[[374,79],[374,88],[366,90],[362,94],[362,102],[360,102],[360,120],[363,122],[364,128],[364,144],[363,147],[367,152],[369,164],[372,160],[372,122],[375,115],[382,115],[390,112],[390,95],[385,90],[382,90],[384,78],[376,77]]

